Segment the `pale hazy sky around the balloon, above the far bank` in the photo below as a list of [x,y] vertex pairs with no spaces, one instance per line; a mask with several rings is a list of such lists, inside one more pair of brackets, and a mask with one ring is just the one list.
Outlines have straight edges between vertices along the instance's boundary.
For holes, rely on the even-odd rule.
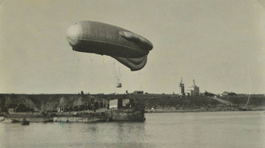
[[[92,20],[153,44],[142,70],[73,51],[68,27]],[[115,67],[115,68],[114,68]],[[0,93],[265,93],[263,0],[0,0]],[[115,70],[120,69],[121,88]]]

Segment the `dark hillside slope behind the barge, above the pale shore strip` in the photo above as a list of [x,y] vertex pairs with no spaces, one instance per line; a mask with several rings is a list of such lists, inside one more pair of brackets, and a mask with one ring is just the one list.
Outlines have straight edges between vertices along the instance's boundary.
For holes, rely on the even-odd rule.
[[[17,106],[18,104],[25,105],[28,109],[35,111],[56,110],[58,106],[63,105],[84,105],[89,103],[91,98],[95,100],[113,100],[118,98],[134,99],[137,102],[145,104],[147,108],[153,106],[171,106],[171,107],[189,107],[199,108],[205,106],[222,105],[207,96],[177,96],[168,94],[0,94],[0,107],[2,111]],[[248,96],[226,96],[221,97],[224,100],[230,101],[235,105],[244,106]],[[265,106],[265,96],[250,97],[249,105]]]

